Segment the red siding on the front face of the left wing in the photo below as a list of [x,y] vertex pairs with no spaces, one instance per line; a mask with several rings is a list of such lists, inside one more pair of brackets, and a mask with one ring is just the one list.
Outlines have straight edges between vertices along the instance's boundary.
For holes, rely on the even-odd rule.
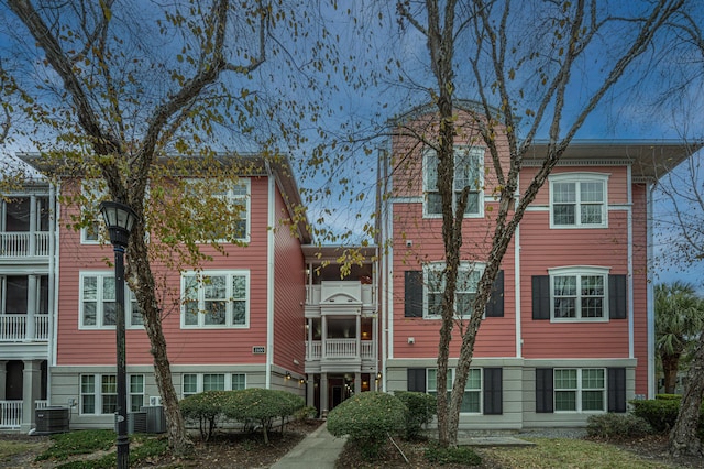
[[[66,187],[65,187],[66,188]],[[253,346],[266,345],[266,271],[267,247],[267,179],[252,178],[251,184],[251,242],[248,247],[228,246],[222,255],[212,248],[204,251],[213,260],[207,270],[250,271],[250,327],[246,329],[182,329],[179,307],[180,277],[177,272],[153,268],[160,293],[166,301],[163,328],[173,364],[199,363],[263,363],[265,356],[252,355]],[[63,207],[63,220],[75,212],[75,207]],[[155,249],[158,249],[154,246]],[[61,297],[58,314],[57,364],[105,364],[116,360],[114,330],[78,330],[79,272],[110,270],[110,247],[80,244],[80,233],[62,227],[61,230]],[[129,253],[128,253],[129,255]],[[144,330],[128,330],[128,364],[150,364],[152,357]]]

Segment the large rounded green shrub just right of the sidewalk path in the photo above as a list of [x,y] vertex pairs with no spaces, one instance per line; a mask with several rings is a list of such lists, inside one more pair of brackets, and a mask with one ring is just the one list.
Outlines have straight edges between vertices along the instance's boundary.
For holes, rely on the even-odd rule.
[[328,432],[349,435],[367,459],[378,456],[388,435],[404,430],[406,406],[396,396],[383,392],[355,394],[328,415]]

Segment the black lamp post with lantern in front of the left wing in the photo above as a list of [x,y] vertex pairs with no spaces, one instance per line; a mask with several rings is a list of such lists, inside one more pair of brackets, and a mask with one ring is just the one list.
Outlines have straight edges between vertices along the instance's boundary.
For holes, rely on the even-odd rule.
[[118,469],[130,467],[130,438],[128,436],[128,377],[124,345],[124,249],[136,221],[136,214],[127,205],[117,201],[100,204],[100,212],[108,227],[114,250],[114,296],[118,307],[116,329],[118,342]]

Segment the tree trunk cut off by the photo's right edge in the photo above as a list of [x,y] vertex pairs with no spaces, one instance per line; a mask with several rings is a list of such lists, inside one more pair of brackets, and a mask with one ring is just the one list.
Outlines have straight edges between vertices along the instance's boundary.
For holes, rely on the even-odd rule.
[[704,335],[700,337],[700,343],[684,384],[680,414],[670,433],[668,449],[673,457],[704,456],[702,441],[697,436],[702,397],[704,397]]

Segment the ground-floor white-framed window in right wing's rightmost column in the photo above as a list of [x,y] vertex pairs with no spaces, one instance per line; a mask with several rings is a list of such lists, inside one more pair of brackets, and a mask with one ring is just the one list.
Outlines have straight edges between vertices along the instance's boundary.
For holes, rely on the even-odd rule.
[[604,412],[606,370],[554,369],[554,412]]

